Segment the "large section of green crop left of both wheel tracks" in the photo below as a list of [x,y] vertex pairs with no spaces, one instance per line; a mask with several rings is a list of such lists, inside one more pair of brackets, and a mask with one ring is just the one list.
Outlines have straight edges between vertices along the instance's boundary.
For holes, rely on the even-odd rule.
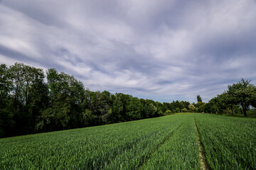
[[176,130],[184,116],[0,140],[0,169],[131,169]]

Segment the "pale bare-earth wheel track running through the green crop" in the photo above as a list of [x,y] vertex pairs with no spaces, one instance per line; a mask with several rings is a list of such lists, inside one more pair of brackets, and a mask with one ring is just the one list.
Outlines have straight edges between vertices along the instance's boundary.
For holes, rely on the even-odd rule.
[[197,137],[198,150],[199,150],[199,155],[198,156],[199,156],[200,164],[201,164],[200,169],[201,170],[209,170],[210,166],[209,166],[208,162],[206,161],[206,152],[203,148],[203,143],[201,142],[201,138],[200,138],[200,135],[199,135],[199,132],[198,132],[198,126],[196,124],[196,119],[194,118],[194,120],[195,120],[196,137]]

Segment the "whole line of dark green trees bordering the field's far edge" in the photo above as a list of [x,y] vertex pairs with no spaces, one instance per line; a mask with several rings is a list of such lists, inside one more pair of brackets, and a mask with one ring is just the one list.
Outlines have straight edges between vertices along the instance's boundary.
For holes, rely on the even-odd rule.
[[255,86],[242,79],[203,103],[160,103],[129,94],[90,91],[75,77],[56,69],[15,63],[0,66],[0,137],[26,135],[155,118],[180,112],[246,115],[255,107]]

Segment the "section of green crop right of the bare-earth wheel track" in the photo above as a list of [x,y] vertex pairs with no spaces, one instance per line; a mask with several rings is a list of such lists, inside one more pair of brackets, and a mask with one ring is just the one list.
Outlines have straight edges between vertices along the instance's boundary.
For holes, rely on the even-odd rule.
[[196,114],[211,169],[256,169],[256,121]]

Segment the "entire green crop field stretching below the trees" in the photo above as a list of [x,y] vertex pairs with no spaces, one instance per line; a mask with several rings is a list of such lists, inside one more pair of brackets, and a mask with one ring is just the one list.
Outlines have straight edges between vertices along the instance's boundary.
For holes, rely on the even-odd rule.
[[202,164],[256,169],[256,119],[188,113],[0,139],[0,169],[201,169]]

